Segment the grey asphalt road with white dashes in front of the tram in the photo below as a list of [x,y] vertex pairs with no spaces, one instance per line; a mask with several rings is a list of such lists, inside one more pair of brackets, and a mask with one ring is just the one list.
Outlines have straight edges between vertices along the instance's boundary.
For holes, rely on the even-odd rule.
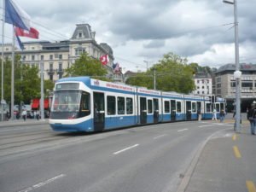
[[1,128],[0,191],[177,191],[198,150],[230,127],[192,121],[96,134]]

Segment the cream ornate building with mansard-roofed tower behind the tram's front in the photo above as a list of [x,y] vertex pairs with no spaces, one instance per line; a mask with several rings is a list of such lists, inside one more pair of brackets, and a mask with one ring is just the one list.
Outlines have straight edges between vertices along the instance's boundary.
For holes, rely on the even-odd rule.
[[[60,42],[48,41],[24,43],[24,50],[15,49],[15,54],[21,55],[22,63],[31,66],[44,66],[44,79],[56,81],[65,75],[65,70],[79,59],[82,53],[93,58],[108,54],[106,66],[108,77],[113,77],[113,49],[106,43],[97,44],[96,32],[92,32],[89,24],[78,24],[72,38]],[[4,55],[11,56],[12,44],[4,44]],[[118,76],[118,77],[117,77]],[[116,81],[121,81],[121,75],[115,75]]]

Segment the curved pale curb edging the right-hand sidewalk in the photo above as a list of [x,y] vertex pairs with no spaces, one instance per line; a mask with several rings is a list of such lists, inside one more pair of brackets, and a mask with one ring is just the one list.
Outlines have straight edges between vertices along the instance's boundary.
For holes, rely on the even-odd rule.
[[[221,131],[224,131],[224,130],[221,130]],[[201,156],[203,149],[206,147],[207,143],[212,139],[212,137],[214,137],[216,134],[218,134],[218,132],[221,132],[221,131],[214,132],[211,136],[207,137],[206,141],[201,143],[201,146],[195,152],[195,156],[193,157],[193,160],[189,164],[189,167],[184,174],[182,182],[179,184],[179,186],[177,188],[177,192],[185,192],[185,190],[187,189],[187,187],[189,185],[190,178],[192,177],[193,173],[195,172],[195,167],[199,161],[199,158]]]

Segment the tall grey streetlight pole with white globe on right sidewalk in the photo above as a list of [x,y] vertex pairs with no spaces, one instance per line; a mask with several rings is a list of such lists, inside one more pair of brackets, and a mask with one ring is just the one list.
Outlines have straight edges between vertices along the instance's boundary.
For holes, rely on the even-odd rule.
[[234,5],[234,20],[235,20],[235,55],[236,55],[236,72],[234,73],[234,78],[236,79],[236,132],[240,133],[240,78],[241,78],[241,71],[239,71],[239,43],[238,43],[238,22],[237,22],[237,1],[234,0],[233,2],[230,1],[223,1],[223,3],[228,3]]

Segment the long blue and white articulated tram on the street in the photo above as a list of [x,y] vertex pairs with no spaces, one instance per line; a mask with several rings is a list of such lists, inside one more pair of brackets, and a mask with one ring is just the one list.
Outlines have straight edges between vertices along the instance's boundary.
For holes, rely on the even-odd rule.
[[224,99],[148,90],[127,84],[75,77],[55,83],[49,115],[54,131],[104,131],[131,125],[148,125],[212,118],[224,109]]

